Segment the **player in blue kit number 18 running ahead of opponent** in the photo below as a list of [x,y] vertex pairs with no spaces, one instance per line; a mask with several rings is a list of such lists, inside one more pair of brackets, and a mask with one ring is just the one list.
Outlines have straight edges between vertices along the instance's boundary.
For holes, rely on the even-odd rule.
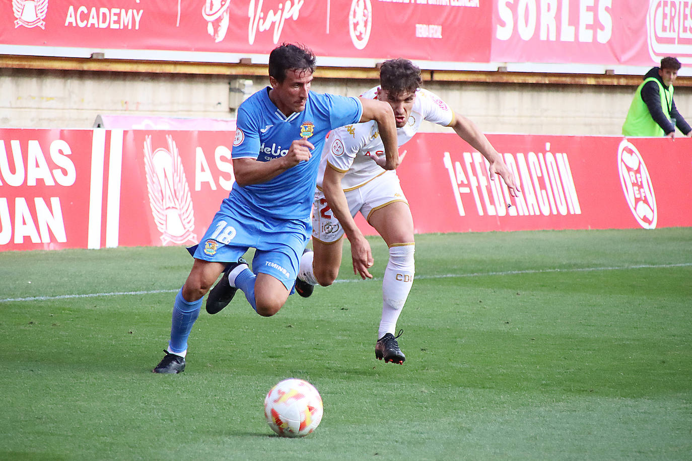
[[[310,211],[325,137],[338,126],[375,120],[386,169],[399,166],[397,126],[390,104],[310,91],[315,56],[282,44],[269,55],[269,83],[238,108],[233,141],[235,184],[199,245],[176,295],[165,357],[154,373],[185,369],[188,337],[206,310],[223,309],[239,289],[262,316],[276,314],[293,292],[300,256],[311,236]],[[316,155],[313,155],[315,153]],[[241,257],[255,248],[252,270]]]

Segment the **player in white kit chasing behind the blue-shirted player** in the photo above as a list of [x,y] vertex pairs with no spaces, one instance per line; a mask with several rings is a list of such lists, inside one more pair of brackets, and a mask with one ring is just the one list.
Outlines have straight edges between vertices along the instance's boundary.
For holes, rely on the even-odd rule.
[[[511,196],[520,191],[513,173],[500,153],[471,120],[462,117],[435,94],[421,88],[420,69],[407,59],[392,59],[380,69],[380,86],[363,94],[388,102],[394,109],[399,147],[415,135],[421,122],[450,126],[489,162],[489,176],[498,174]],[[374,260],[353,216],[363,217],[389,247],[389,261],[382,282],[382,317],[375,357],[403,364],[397,338],[397,319],[406,303],[414,278],[415,241],[413,218],[395,171],[386,171],[384,147],[374,122],[342,126],[329,133],[322,150],[318,188],[312,208],[313,252],[303,254],[295,290],[302,297],[314,285],[327,286],[338,276],[343,235],[351,243],[354,274],[372,278]]]

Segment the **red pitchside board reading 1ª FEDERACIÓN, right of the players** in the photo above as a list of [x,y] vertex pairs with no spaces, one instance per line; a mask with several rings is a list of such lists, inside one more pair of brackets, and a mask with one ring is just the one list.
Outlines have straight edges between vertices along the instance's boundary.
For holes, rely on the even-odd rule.
[[673,179],[692,173],[690,138],[488,138],[514,171],[519,197],[491,181],[484,158],[454,134],[421,133],[401,148],[397,171],[416,232],[692,225],[691,193]]

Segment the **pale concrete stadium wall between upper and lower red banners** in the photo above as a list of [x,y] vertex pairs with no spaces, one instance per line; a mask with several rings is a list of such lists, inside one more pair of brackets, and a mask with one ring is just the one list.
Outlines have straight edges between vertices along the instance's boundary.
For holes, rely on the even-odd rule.
[[[246,87],[250,91],[268,83],[260,74],[0,67],[0,127],[91,128],[97,115],[234,118],[229,87],[246,81],[252,82]],[[424,86],[486,133],[619,135],[638,81],[609,85],[427,81]],[[376,84],[373,78],[320,77],[318,68],[313,90],[358,95]],[[692,86],[676,86],[675,103],[692,122]],[[446,129],[425,124],[424,131]]]

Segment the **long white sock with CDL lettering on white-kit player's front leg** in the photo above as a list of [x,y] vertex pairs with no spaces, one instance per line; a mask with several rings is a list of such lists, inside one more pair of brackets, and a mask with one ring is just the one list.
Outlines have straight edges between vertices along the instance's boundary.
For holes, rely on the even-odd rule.
[[397,330],[397,320],[406,303],[415,273],[415,243],[399,243],[390,247],[390,259],[382,281],[382,319],[377,338]]

